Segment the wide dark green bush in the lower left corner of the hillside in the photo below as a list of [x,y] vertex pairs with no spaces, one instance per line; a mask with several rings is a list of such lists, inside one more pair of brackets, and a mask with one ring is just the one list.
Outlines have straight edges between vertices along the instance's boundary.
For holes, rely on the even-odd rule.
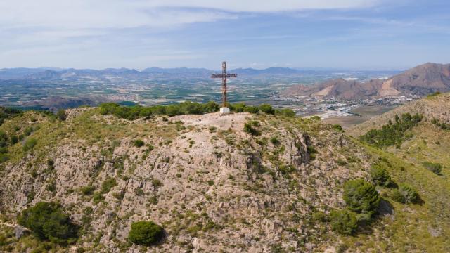
[[67,244],[75,242],[77,238],[77,226],[63,213],[60,205],[54,202],[39,202],[34,207],[23,210],[18,223],[30,228],[40,240]]

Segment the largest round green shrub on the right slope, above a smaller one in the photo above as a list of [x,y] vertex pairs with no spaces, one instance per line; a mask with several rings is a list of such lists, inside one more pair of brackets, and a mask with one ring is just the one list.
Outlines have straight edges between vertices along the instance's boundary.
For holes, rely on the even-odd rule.
[[371,183],[356,179],[344,183],[344,200],[350,210],[372,214],[380,204],[380,195]]

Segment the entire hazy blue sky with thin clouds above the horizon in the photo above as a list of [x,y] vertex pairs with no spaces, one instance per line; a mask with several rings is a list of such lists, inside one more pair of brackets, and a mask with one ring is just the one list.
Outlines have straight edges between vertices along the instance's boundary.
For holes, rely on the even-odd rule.
[[449,0],[0,0],[0,67],[450,63]]

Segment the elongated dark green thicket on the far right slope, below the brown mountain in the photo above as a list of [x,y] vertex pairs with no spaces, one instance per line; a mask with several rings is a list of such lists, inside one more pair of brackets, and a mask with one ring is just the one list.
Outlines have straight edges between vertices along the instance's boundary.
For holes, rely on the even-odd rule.
[[359,139],[376,148],[384,148],[390,145],[398,147],[406,138],[405,132],[422,121],[422,117],[418,114],[411,116],[409,113],[401,115],[401,118],[395,115],[395,123],[390,121],[381,129],[371,129],[366,134],[359,136]]

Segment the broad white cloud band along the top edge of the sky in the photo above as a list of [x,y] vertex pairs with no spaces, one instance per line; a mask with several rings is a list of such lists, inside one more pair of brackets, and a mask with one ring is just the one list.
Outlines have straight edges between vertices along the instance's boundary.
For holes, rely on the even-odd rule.
[[363,8],[380,0],[2,0],[0,26],[127,28],[211,22],[233,12]]

